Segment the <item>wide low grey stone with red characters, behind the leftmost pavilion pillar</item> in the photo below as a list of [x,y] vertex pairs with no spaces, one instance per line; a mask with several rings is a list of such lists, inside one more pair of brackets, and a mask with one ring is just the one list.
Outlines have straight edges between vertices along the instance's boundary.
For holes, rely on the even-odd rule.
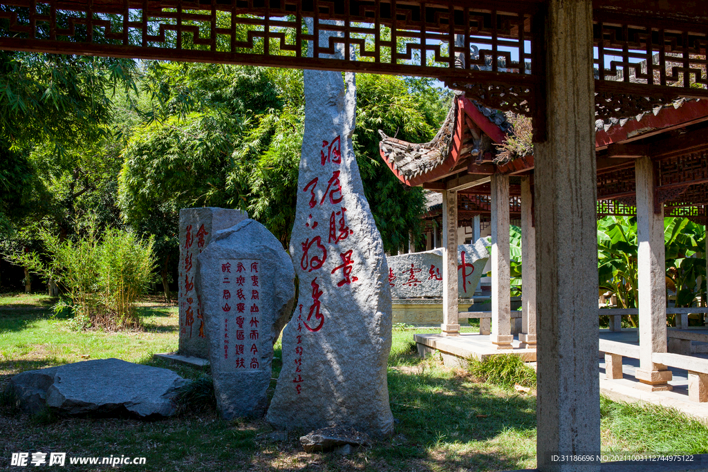
[[[479,284],[489,251],[484,239],[457,246],[457,292],[470,298]],[[389,287],[394,299],[442,298],[442,249],[387,258]]]

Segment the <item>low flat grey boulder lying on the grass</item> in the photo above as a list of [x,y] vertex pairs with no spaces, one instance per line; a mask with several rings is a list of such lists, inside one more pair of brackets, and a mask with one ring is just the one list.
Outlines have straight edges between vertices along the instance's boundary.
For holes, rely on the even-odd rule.
[[61,415],[171,416],[179,388],[189,384],[169,369],[96,359],[30,370],[10,381],[21,408],[50,407]]

